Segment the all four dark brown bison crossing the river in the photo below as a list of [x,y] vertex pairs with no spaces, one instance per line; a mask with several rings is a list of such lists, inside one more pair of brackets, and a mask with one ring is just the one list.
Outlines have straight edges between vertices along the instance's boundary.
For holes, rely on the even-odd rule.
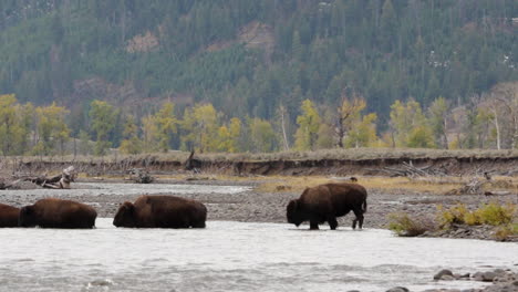
[[[358,184],[325,184],[307,188],[299,199],[287,206],[287,219],[297,227],[304,221],[310,229],[328,222],[336,229],[336,217],[353,211],[356,223],[363,226],[366,190]],[[94,228],[97,212],[89,205],[45,198],[21,209],[0,204],[0,227]],[[128,228],[205,228],[207,208],[199,201],[174,196],[141,196],[118,208],[113,225]]]

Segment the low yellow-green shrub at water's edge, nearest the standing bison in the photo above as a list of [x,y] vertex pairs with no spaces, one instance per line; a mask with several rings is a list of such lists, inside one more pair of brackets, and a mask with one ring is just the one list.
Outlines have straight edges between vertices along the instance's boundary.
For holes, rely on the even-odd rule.
[[400,237],[416,237],[434,229],[429,220],[411,218],[406,212],[390,213],[388,221],[388,229]]

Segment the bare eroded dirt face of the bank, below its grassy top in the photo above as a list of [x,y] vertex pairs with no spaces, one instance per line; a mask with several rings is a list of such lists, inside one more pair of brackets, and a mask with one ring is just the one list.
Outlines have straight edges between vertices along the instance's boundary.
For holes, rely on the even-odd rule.
[[[1,163],[1,161],[0,161]],[[167,160],[157,156],[124,159],[76,160],[28,160],[4,161],[2,173],[39,174],[61,171],[73,165],[80,173],[91,176],[126,173],[133,168],[145,168],[154,173],[178,173],[185,170],[185,160]],[[518,175],[518,156],[501,157],[397,157],[373,159],[276,159],[276,160],[210,160],[196,158],[196,169],[206,174],[219,175],[365,175],[391,176],[394,169],[404,169],[407,165],[425,168],[427,173],[446,176],[469,176],[490,173],[495,175]]]

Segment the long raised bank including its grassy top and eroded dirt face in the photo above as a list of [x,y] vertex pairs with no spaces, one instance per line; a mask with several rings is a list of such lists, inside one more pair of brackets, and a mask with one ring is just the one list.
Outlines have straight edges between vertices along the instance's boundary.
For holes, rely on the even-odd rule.
[[[189,153],[133,156],[0,157],[0,176],[61,173],[73,165],[89,176],[124,175],[134,168],[154,174],[185,170]],[[271,154],[198,154],[197,171],[229,176],[518,176],[518,150],[444,150],[407,148],[327,149]],[[411,171],[408,174],[408,168]],[[412,169],[415,168],[415,169]],[[412,173],[414,170],[414,173]]]

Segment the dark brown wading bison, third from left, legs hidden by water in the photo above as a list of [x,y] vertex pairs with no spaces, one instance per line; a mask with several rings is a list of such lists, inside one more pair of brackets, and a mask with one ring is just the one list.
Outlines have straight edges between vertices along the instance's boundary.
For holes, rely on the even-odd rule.
[[113,225],[136,228],[205,228],[207,208],[199,201],[173,196],[141,196],[125,201]]

